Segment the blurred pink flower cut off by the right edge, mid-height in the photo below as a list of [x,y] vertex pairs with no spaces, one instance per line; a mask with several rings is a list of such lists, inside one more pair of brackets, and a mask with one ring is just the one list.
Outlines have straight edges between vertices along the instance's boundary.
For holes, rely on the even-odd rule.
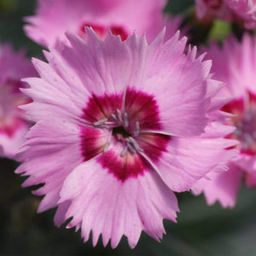
[[246,34],[238,42],[230,37],[222,49],[211,44],[207,51],[213,78],[226,83],[221,93],[232,99],[223,110],[233,113],[229,123],[236,131],[230,137],[240,142],[236,146],[240,153],[227,163],[228,172],[212,172],[210,180],[201,179],[195,193],[204,192],[208,204],[220,201],[223,207],[234,207],[242,178],[248,187],[256,186],[256,38]]

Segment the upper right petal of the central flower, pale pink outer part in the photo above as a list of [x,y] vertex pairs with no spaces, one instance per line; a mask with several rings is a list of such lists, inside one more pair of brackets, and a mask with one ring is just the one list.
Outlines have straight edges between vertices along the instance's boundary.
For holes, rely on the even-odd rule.
[[[178,40],[178,33],[166,43],[163,39],[164,32],[149,47],[144,38],[133,36],[126,40],[134,63],[131,86],[154,94],[166,133],[199,135],[207,124],[205,79],[211,64],[201,59],[188,60],[183,54],[186,38]],[[184,129],[187,126],[189,129]]]

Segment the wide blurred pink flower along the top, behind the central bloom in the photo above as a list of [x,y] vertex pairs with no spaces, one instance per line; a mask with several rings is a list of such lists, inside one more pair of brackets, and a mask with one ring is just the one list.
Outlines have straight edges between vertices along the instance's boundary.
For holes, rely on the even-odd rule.
[[166,0],[38,0],[36,15],[27,17],[25,26],[28,37],[46,47],[65,32],[85,38],[84,26],[91,26],[100,38],[110,29],[122,40],[136,31],[146,32],[151,42],[166,26],[166,38],[171,38],[180,26],[179,17],[163,15]]

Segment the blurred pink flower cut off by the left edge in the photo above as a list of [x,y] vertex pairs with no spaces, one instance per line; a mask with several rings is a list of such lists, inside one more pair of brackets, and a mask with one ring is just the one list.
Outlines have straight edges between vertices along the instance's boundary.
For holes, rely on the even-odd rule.
[[34,76],[32,64],[25,51],[15,52],[10,44],[0,45],[0,156],[14,158],[25,141],[28,122],[17,108],[29,101],[19,90],[21,78]]

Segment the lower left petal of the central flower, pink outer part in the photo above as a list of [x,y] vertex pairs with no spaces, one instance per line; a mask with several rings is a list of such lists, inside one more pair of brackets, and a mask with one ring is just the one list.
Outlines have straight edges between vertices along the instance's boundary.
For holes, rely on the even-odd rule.
[[18,157],[26,162],[15,172],[30,175],[23,183],[25,187],[44,183],[44,187],[34,192],[46,195],[39,212],[56,206],[64,179],[83,162],[79,131],[78,125],[65,119],[49,118],[38,122],[27,134],[26,151]]

